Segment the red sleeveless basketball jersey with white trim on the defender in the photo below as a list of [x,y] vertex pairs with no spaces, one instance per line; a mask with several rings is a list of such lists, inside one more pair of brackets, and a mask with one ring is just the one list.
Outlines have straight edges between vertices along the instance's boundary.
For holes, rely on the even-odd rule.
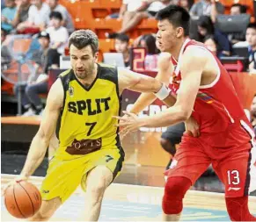
[[[182,79],[179,60],[187,47],[208,50],[200,42],[187,39],[180,50],[178,61],[172,57],[174,72],[170,88],[175,94],[179,94],[179,84]],[[201,137],[213,146],[230,147],[248,142],[253,137],[252,126],[238,100],[230,75],[216,56],[212,55],[219,70],[214,82],[200,87],[192,116],[200,125]]]

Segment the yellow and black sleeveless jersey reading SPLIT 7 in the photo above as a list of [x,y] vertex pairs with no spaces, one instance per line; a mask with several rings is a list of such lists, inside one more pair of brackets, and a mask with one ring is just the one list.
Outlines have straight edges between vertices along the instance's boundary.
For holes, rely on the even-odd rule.
[[117,68],[98,64],[89,88],[77,80],[72,69],[60,75],[64,90],[62,112],[56,127],[60,141],[55,156],[77,158],[104,148],[119,148],[118,121],[121,97]]

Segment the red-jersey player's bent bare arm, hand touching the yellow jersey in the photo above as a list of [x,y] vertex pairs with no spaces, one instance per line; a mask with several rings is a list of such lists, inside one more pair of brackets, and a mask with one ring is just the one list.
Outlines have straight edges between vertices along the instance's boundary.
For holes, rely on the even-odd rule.
[[177,102],[171,108],[145,118],[137,118],[133,114],[128,114],[130,118],[121,121],[120,126],[126,126],[127,131],[133,131],[141,126],[161,127],[186,121],[192,114],[201,83],[201,74],[208,59],[207,51],[201,49],[198,52],[198,50],[198,48],[188,47],[184,53],[180,64],[182,81]]

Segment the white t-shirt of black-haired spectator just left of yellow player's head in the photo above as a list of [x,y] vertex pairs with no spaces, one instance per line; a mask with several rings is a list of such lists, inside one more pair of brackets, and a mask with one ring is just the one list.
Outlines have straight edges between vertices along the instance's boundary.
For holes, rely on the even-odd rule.
[[59,54],[64,54],[65,47],[69,40],[69,32],[68,30],[61,26],[58,29],[55,29],[55,27],[48,27],[46,30],[50,35],[50,46],[55,45],[56,42],[62,42],[62,45],[57,48],[57,51]]

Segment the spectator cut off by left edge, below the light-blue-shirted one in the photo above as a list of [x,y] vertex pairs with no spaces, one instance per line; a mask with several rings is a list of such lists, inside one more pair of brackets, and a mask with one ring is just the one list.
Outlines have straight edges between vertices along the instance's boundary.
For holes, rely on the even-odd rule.
[[12,56],[7,45],[4,43],[6,39],[7,32],[1,29],[1,70],[6,70],[11,64]]

